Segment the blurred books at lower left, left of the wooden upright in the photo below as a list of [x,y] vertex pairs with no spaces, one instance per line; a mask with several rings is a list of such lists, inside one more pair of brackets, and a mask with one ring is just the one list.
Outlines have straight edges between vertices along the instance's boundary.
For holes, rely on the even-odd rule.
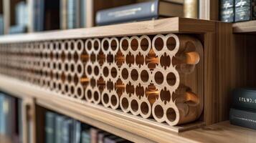
[[22,142],[22,109],[20,99],[0,92],[0,134]]

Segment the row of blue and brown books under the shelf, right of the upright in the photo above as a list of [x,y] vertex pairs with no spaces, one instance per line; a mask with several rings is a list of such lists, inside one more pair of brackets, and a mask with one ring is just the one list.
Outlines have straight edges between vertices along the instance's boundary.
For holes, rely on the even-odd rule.
[[100,129],[90,127],[62,114],[45,113],[46,143],[125,143],[129,142]]

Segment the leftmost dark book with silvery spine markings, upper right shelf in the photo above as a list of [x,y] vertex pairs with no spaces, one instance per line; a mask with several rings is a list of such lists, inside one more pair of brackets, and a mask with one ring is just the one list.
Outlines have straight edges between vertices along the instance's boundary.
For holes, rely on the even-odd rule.
[[234,22],[234,0],[220,1],[220,20]]

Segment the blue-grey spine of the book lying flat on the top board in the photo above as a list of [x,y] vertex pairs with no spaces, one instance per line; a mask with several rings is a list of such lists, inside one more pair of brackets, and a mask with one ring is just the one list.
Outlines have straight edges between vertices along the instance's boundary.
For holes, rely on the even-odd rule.
[[96,24],[107,25],[125,21],[136,21],[138,19],[155,18],[158,16],[158,5],[158,1],[149,1],[98,11],[96,14]]

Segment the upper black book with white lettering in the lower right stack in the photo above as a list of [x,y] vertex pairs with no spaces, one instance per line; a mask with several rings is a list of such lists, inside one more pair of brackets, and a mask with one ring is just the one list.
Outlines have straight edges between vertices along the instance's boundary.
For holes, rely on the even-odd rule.
[[256,89],[234,89],[232,91],[232,107],[256,111]]

